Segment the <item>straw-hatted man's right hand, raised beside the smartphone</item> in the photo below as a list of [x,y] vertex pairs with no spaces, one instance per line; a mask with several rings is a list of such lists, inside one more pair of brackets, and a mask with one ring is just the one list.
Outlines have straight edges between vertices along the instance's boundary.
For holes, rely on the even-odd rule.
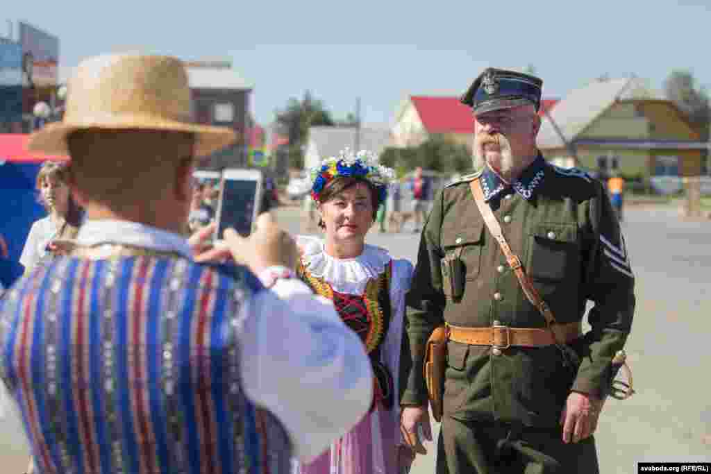
[[247,266],[257,275],[269,266],[296,268],[299,252],[294,239],[286,231],[279,229],[268,212],[257,218],[257,229],[250,237],[242,237],[230,228],[225,230],[223,239],[224,246],[198,255],[196,262],[214,262],[231,256],[235,262]]

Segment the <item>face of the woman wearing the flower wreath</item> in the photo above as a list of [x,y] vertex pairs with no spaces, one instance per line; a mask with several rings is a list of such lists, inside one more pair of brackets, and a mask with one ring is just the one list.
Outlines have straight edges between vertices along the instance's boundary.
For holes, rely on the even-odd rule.
[[365,241],[373,225],[373,197],[365,183],[358,183],[322,203],[319,210],[326,239],[334,242]]

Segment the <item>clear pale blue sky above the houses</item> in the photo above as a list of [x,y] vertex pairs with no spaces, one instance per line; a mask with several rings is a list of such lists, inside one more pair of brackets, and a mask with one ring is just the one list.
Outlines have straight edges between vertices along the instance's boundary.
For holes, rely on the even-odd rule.
[[[407,94],[459,94],[486,66],[535,66],[547,97],[634,73],[661,89],[673,69],[711,86],[711,0],[4,1],[7,20],[60,38],[60,63],[122,49],[231,58],[255,84],[262,124],[309,89],[335,117],[392,122]],[[184,6],[183,6],[184,5]],[[5,20],[5,21],[4,21]],[[16,33],[15,33],[16,34]]]

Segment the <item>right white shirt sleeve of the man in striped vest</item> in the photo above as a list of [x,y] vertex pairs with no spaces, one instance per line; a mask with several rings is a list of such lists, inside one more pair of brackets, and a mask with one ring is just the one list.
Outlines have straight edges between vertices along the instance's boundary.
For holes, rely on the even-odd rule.
[[296,456],[309,462],[370,408],[373,372],[363,343],[331,301],[296,279],[260,291],[242,311],[245,394],[282,421]]

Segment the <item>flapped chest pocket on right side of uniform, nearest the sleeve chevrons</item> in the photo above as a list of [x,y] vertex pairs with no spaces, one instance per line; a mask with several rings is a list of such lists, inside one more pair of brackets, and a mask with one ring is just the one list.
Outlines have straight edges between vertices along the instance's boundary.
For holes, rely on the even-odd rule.
[[535,225],[528,236],[526,271],[533,279],[542,281],[577,281],[580,272],[577,225]]

